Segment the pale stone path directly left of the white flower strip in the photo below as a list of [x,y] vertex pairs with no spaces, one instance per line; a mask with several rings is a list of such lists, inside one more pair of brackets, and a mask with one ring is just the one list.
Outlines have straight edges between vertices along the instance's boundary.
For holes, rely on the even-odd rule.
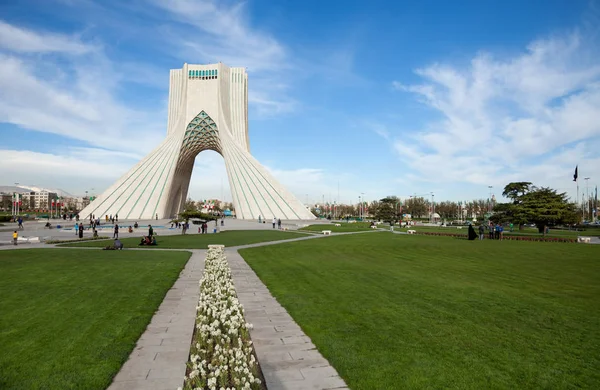
[[205,250],[192,251],[109,390],[173,390],[183,385],[205,257]]

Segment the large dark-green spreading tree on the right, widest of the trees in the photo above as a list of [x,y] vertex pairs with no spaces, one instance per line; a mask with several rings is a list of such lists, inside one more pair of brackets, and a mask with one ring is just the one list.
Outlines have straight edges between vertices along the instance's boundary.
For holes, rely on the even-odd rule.
[[[511,191],[506,191],[507,188]],[[505,187],[505,192],[506,195],[503,195],[510,198],[512,203],[496,205],[495,221],[519,225],[533,223],[544,234],[549,225],[574,224],[578,221],[577,208],[569,202],[566,193],[558,193],[547,187],[536,188],[527,182],[510,183]]]

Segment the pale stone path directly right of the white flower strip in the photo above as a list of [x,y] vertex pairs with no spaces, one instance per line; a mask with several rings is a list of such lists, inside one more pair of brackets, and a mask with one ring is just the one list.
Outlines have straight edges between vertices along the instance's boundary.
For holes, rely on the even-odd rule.
[[271,295],[237,249],[226,249],[225,253],[238,299],[244,305],[246,321],[254,326],[250,336],[267,388],[347,389],[337,371]]

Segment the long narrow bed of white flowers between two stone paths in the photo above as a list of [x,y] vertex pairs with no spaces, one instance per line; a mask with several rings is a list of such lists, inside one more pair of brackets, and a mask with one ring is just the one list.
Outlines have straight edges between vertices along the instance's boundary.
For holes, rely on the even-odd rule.
[[263,389],[223,246],[209,246],[184,389]]

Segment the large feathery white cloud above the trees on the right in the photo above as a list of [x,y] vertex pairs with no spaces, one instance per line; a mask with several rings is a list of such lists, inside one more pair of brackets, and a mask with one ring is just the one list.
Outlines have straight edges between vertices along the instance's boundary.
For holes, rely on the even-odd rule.
[[[565,187],[576,164],[600,176],[600,53],[581,34],[532,42],[521,55],[476,55],[466,68],[433,64],[413,93],[439,114],[395,150],[421,177],[501,187],[511,180]],[[406,134],[411,134],[407,139]]]

